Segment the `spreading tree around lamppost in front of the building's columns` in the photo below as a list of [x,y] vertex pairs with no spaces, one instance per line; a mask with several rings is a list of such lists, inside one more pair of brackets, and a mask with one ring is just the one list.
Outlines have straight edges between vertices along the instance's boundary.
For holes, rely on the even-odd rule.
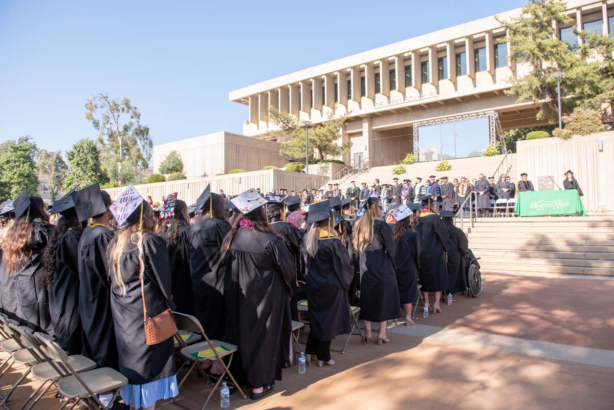
[[[313,158],[314,149],[320,153],[322,158],[327,155],[338,157],[348,153],[352,147],[352,142],[348,141],[343,145],[337,144],[341,137],[340,130],[348,121],[349,113],[335,118],[335,109],[328,112],[327,120],[318,126],[309,128],[309,156]],[[269,118],[279,130],[273,134],[281,139],[279,153],[285,157],[303,158],[305,157],[305,127],[298,122],[295,115],[281,112],[274,107],[269,107]]]

